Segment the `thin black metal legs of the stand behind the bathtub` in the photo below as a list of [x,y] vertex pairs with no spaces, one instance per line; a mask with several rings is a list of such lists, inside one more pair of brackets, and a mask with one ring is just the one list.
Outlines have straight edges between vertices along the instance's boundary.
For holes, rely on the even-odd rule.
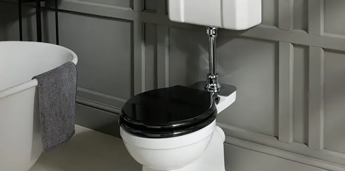
[[[19,15],[19,36],[20,40],[23,41],[23,25],[22,25],[22,3],[33,3],[35,2],[36,8],[36,30],[37,30],[37,41],[42,42],[42,26],[41,26],[41,2],[51,0],[18,0],[18,15]],[[55,36],[56,45],[59,45],[59,22],[57,17],[57,0],[52,0],[55,3]]]

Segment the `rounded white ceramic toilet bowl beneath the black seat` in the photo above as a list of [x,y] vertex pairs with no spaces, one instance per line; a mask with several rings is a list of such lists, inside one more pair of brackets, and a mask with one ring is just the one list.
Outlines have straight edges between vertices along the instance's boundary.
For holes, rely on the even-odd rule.
[[143,138],[122,128],[120,134],[129,154],[143,166],[154,170],[175,170],[197,160],[215,131],[216,121],[203,129],[171,138]]

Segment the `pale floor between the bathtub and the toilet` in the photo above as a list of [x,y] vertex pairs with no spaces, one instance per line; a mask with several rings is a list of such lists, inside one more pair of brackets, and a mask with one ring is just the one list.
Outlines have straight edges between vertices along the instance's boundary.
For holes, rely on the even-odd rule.
[[121,139],[76,125],[75,135],[45,152],[29,171],[140,171]]

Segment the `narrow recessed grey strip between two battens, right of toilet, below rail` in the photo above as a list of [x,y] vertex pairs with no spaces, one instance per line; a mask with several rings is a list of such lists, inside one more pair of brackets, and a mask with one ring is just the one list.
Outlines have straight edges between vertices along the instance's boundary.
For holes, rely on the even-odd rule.
[[294,46],[294,141],[308,143],[309,48]]

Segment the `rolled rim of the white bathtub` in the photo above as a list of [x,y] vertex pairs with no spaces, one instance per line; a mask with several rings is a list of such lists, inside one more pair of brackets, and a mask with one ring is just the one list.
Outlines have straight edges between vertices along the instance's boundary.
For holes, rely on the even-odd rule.
[[[76,63],[78,63],[78,56],[71,51],[70,49],[60,46],[60,45],[55,45],[55,44],[50,44],[50,43],[46,43],[46,42],[36,42],[36,41],[2,41],[2,42],[32,42],[33,44],[49,44],[50,46],[57,46],[60,47],[64,50],[66,50],[67,52],[69,52],[70,54],[72,54],[72,60],[70,60],[71,62],[74,63],[74,65],[76,65]],[[32,87],[36,87],[37,86],[37,80],[36,79],[32,79],[29,81],[25,81],[23,83],[17,84],[15,86],[9,87],[5,90],[1,90],[0,91],[0,99],[5,98],[7,96],[25,91],[27,89],[30,89]]]

